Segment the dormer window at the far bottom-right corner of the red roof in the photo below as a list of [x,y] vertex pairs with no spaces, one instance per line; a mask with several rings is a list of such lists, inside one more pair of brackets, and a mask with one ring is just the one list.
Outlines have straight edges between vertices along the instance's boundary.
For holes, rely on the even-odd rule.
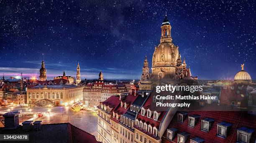
[[254,132],[251,128],[241,127],[237,129],[237,139],[238,143],[250,143],[251,135]]

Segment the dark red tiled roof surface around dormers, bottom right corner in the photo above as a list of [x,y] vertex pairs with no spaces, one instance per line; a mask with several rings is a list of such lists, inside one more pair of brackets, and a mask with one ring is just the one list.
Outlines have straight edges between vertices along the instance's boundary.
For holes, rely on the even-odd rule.
[[[177,112],[179,113],[179,112]],[[199,137],[205,140],[205,143],[236,143],[237,129],[242,126],[246,128],[254,129],[254,133],[251,137],[251,142],[254,143],[256,139],[256,116],[250,115],[245,111],[189,111],[187,117],[184,119],[183,123],[177,122],[177,113],[169,124],[168,128],[177,128],[178,133],[187,132],[190,134],[189,139],[186,143],[189,143],[191,138]],[[197,114],[200,115],[195,127],[190,127],[188,125],[188,116]],[[207,133],[201,131],[201,120],[204,118],[212,118],[214,122],[210,131]],[[221,122],[231,123],[230,132],[227,138],[221,138],[216,136],[217,134],[217,124]],[[164,132],[162,139],[164,143],[177,143],[177,135],[174,137],[173,141],[166,139],[167,130]]]

